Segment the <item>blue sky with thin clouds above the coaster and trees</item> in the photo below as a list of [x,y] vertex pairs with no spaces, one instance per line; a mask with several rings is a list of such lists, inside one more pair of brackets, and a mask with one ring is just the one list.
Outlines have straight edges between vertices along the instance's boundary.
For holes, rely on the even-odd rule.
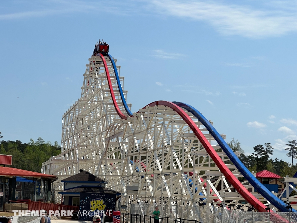
[[[132,111],[182,101],[247,154],[297,139],[296,1],[6,1],[0,5],[4,140],[61,141],[99,39]],[[18,98],[17,98],[18,97]],[[296,161],[295,161],[296,162]]]

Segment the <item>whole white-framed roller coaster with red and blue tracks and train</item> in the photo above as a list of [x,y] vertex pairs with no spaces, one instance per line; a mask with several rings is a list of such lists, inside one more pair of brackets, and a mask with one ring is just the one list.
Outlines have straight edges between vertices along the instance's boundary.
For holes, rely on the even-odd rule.
[[[274,210],[290,211],[291,206],[256,179],[239,160],[240,153],[224,141],[225,135],[197,109],[159,100],[132,113],[120,66],[108,50],[106,43],[95,45],[81,97],[62,119],[61,154],[43,163],[42,173],[63,180],[87,170],[108,180],[106,187],[120,191],[122,202],[126,199],[128,204],[190,203],[195,208],[214,203],[230,208],[246,200],[244,206],[267,211],[261,198]],[[295,179],[289,182],[285,200],[296,186]],[[55,187],[61,189],[62,184]]]

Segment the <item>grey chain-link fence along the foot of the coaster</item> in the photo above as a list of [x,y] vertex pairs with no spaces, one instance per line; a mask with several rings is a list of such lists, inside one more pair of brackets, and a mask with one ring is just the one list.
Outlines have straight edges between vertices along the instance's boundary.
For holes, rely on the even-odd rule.
[[[295,212],[252,212],[227,210],[216,206],[189,206],[189,205],[158,205],[160,216],[168,223],[297,223]],[[131,204],[122,213],[134,214],[127,219],[122,216],[124,223],[152,223],[151,218],[155,205]],[[137,214],[135,216],[135,214]],[[167,220],[168,217],[168,220]],[[128,221],[129,220],[129,221]],[[162,221],[165,223],[165,220]],[[160,220],[161,223],[161,220]]]

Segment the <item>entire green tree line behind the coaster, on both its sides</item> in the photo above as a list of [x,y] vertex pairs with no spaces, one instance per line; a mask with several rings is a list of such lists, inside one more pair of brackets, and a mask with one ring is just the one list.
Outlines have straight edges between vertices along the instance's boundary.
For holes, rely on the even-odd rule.
[[[1,138],[3,136],[0,132]],[[293,177],[297,171],[297,164],[293,164],[294,159],[297,158],[297,142],[295,139],[289,141],[286,144],[288,147],[285,149],[288,151],[286,155],[292,158],[292,163],[278,158],[271,159],[270,155],[273,154],[274,148],[269,142],[265,143],[264,146],[259,144],[253,147],[254,152],[249,156],[245,155],[238,139],[232,138],[227,144],[234,152],[241,153],[239,159],[251,172],[260,172],[266,169],[282,177],[287,175]],[[41,137],[36,141],[30,139],[28,143],[22,143],[20,140],[0,141],[0,154],[12,155],[12,165],[9,167],[17,169],[41,172],[42,163],[51,156],[57,156],[60,153],[61,147],[57,141],[52,144],[50,141],[45,142]]]

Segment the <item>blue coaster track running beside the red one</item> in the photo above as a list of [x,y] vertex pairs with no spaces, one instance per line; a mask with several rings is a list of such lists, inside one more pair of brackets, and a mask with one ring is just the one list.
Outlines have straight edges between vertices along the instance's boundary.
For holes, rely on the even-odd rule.
[[[106,56],[108,56],[108,58],[110,59],[112,65],[113,65],[113,69],[114,69],[114,72],[116,75],[116,80],[118,83],[119,92],[121,95],[121,99],[122,99],[124,108],[125,108],[127,114],[129,114],[129,116],[131,116],[133,113],[130,111],[130,109],[127,105],[127,102],[124,98],[123,90],[122,90],[120,79],[119,79],[119,74],[116,69],[116,64],[110,54],[107,54]],[[225,140],[220,136],[220,134],[217,132],[217,130],[211,125],[211,123],[200,112],[198,112],[197,109],[195,109],[194,107],[192,107],[186,103],[181,103],[181,102],[172,102],[172,103],[176,104],[177,106],[179,106],[181,108],[186,109],[188,112],[191,112],[206,127],[206,129],[209,131],[209,133],[219,143],[222,150],[229,157],[231,162],[236,166],[238,171],[241,172],[241,174],[249,181],[249,183],[252,184],[252,186],[255,189],[257,189],[257,191],[263,197],[265,197],[272,205],[274,205],[280,211],[282,211],[282,212],[289,211],[286,208],[288,205],[285,204],[285,202],[283,202],[282,200],[280,200],[279,198],[274,196],[274,194],[272,194],[271,191],[269,191],[265,186],[263,186],[263,184],[261,184],[259,182],[259,180],[257,180],[257,178],[255,178],[255,176],[252,175],[252,173],[247,169],[247,167],[245,167],[244,164],[239,160],[239,158],[233,153],[231,148],[228,146],[228,144],[225,142]],[[297,176],[297,172],[295,175]],[[294,176],[294,177],[296,177],[296,176]],[[295,209],[292,209],[292,211],[296,212]]]

